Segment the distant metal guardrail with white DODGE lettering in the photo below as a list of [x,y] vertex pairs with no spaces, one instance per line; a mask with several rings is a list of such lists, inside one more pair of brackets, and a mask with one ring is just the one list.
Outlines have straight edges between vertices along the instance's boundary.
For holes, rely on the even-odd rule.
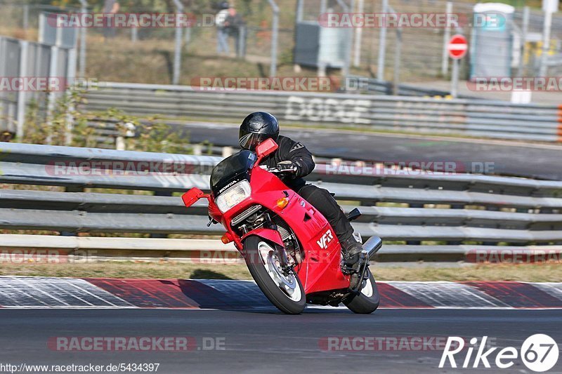
[[282,121],[309,125],[562,142],[562,105],[351,93],[204,91],[113,82],[100,82],[96,90],[86,93],[86,99],[81,109],[88,112],[114,107],[138,116],[240,119],[266,110]]

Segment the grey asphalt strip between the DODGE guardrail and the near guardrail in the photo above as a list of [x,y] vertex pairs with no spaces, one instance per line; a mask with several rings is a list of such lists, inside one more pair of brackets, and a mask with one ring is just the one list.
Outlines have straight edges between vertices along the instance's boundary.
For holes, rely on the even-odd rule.
[[[190,142],[209,140],[218,146],[238,147],[237,126],[223,123],[171,122],[178,131],[188,131]],[[313,154],[364,161],[450,161],[464,172],[493,163],[490,174],[562,180],[562,146],[523,144],[502,140],[473,140],[282,128],[282,135],[300,140]]]

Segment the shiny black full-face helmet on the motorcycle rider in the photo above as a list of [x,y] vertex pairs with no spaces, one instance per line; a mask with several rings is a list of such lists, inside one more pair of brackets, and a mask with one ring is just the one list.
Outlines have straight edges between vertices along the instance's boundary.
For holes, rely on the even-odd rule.
[[256,150],[256,146],[263,140],[279,137],[279,122],[275,116],[266,112],[249,114],[240,125],[240,147]]

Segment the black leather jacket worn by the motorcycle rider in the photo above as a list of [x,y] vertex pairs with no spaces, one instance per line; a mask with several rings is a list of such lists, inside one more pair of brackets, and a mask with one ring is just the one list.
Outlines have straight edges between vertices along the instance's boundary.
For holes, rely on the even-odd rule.
[[296,173],[287,173],[283,176],[283,181],[287,184],[287,187],[297,191],[306,184],[303,177],[306,177],[314,170],[315,163],[312,159],[312,154],[301,142],[295,142],[286,136],[280,135],[277,138],[277,145],[279,145],[279,148],[273,154],[267,156],[266,159],[263,159],[261,165],[275,168],[277,163],[281,161],[292,161],[294,166],[296,166]]

